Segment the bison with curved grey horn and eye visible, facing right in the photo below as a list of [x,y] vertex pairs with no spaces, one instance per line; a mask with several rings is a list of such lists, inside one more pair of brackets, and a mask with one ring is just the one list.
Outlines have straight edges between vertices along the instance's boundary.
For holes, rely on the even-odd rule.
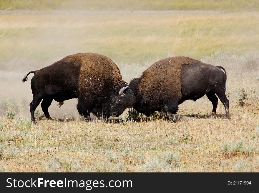
[[[67,56],[54,64],[41,68],[31,79],[33,100],[30,103],[31,121],[35,121],[34,111],[42,100],[41,108],[47,119],[51,119],[48,108],[52,100],[63,105],[64,100],[78,98],[77,110],[90,121],[90,112],[100,118],[119,116],[125,108],[135,103],[135,96],[122,80],[116,64],[106,56],[97,53],[77,53]],[[116,105],[114,105],[114,103]],[[59,107],[60,107],[59,106]]]

